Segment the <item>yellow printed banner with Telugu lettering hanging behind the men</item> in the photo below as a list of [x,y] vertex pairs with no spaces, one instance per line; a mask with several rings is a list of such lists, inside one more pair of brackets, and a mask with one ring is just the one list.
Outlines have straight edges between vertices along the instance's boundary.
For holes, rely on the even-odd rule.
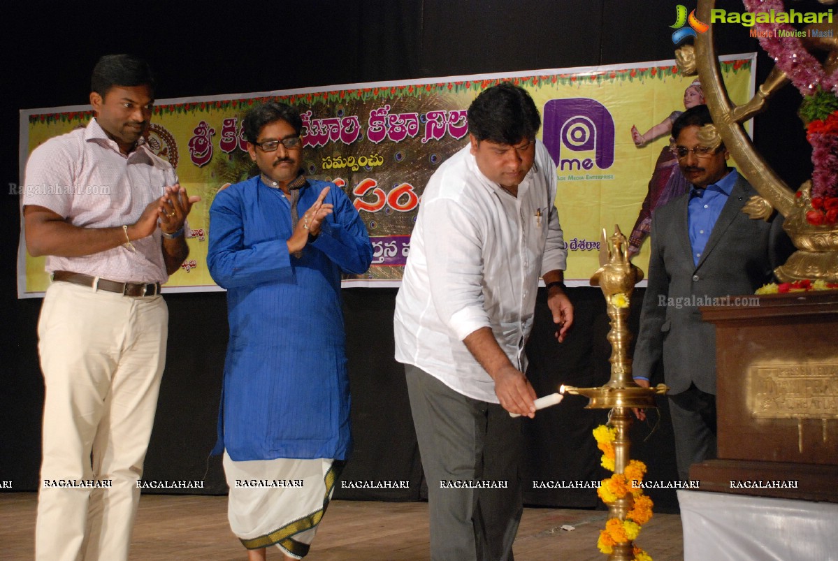
[[[756,54],[721,60],[732,101],[744,103],[754,91]],[[428,179],[468,142],[466,111],[474,97],[504,80],[527,89],[541,111],[540,137],[558,167],[556,208],[569,254],[567,284],[588,286],[599,266],[603,228],[611,234],[619,224],[629,235],[655,162],[670,142],[666,129],[637,147],[632,127],[649,131],[684,110],[685,89],[695,78],[680,75],[674,60],[157,100],[149,146],[172,163],[189,194],[202,198],[189,214],[189,260],[166,290],[220,290],[206,266],[209,207],[222,186],[256,174],[241,121],[264,100],[299,107],[305,172],[343,188],[369,229],[373,264],[344,286],[397,286]],[[85,188],[26,185],[23,175],[29,152],[85,126],[91,116],[90,106],[21,111],[21,183],[11,187],[21,205],[36,189]],[[92,187],[101,193],[89,194],[108,196],[107,186]],[[647,252],[644,246],[634,260],[641,268]],[[47,286],[44,258],[26,253],[22,231],[18,295],[42,296]]]

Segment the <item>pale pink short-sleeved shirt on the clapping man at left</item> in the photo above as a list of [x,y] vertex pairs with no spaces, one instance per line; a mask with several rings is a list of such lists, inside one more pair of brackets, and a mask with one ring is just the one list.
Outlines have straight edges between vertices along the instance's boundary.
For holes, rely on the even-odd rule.
[[[37,205],[80,228],[134,224],[167,186],[178,183],[173,167],[141,138],[127,156],[96,119],[84,129],[50,138],[26,165],[23,206]],[[160,229],[125,246],[81,257],[49,255],[46,270],[69,270],[119,282],[168,280]]]

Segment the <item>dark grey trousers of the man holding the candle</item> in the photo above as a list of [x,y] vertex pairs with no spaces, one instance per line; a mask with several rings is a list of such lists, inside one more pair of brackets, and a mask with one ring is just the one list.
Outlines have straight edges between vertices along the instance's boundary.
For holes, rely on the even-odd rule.
[[[521,419],[458,394],[421,368],[406,364],[405,373],[427,479],[431,558],[511,561],[523,512]],[[495,488],[469,488],[472,481]]]

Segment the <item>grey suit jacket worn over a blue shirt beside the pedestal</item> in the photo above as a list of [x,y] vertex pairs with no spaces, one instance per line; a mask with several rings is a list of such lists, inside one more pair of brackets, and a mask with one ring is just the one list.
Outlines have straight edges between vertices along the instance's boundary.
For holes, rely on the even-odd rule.
[[773,281],[774,267],[794,250],[781,215],[766,222],[741,212],[756,194],[744,178],[737,179],[698,265],[687,230],[690,193],[655,210],[634,375],[650,377],[663,359],[670,394],[689,389],[691,382],[716,394],[716,328],[701,321],[698,306],[724,296],[732,296],[732,305],[736,296],[753,295]]

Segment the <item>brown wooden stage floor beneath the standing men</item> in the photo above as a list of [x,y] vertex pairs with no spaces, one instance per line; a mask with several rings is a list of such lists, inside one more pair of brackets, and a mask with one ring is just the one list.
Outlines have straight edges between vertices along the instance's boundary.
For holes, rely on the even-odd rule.
[[[37,496],[0,493],[0,559],[33,558]],[[525,508],[517,561],[604,561],[597,550],[605,511]],[[576,529],[568,532],[561,526]],[[655,514],[640,533],[639,545],[655,561],[680,561],[680,516]],[[333,501],[320,524],[307,561],[428,558],[427,502]],[[137,512],[131,558],[136,561],[246,559],[227,525],[227,497],[143,495]],[[270,551],[268,559],[282,559]]]

